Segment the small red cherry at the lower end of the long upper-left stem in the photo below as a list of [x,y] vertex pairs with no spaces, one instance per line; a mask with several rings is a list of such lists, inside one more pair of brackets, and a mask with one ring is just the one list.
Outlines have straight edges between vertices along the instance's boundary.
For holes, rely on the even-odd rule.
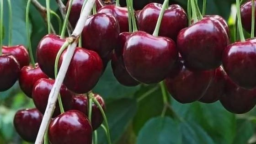
[[32,89],[35,82],[42,78],[48,78],[47,75],[43,73],[38,64],[33,68],[32,65],[24,66],[21,69],[21,75],[19,78],[19,84],[21,90],[30,98],[32,98]]

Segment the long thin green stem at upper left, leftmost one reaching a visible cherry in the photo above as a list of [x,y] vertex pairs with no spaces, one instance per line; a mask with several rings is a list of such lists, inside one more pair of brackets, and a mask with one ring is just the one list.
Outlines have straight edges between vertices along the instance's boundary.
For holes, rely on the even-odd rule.
[[30,6],[31,0],[27,0],[27,8],[26,8],[26,30],[27,30],[27,43],[28,43],[28,51],[29,51],[29,56],[30,56],[30,61],[35,68],[35,60],[33,58],[33,53],[32,53],[32,46],[31,46],[31,39],[30,39],[30,32],[29,32],[29,6]]

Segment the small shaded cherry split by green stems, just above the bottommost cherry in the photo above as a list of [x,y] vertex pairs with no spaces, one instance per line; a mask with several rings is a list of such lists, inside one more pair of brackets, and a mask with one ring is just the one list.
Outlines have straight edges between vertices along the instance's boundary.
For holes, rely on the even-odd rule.
[[[96,100],[101,104],[101,107],[106,109],[105,107],[105,101],[100,95],[95,94],[94,95]],[[85,95],[77,95],[74,96],[74,101],[72,105],[72,110],[78,110],[80,112],[83,112],[88,117],[88,99]],[[99,128],[103,122],[103,116],[101,114],[100,109],[96,106],[96,104],[92,103],[92,109],[91,109],[91,122],[92,122],[92,130],[96,130]]]

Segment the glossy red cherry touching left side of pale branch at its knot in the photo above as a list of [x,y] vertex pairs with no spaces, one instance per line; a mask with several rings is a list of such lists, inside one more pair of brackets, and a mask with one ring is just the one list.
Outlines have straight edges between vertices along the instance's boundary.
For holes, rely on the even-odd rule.
[[65,39],[58,35],[48,34],[44,36],[37,46],[37,63],[48,77],[54,78],[54,64],[59,49]]

